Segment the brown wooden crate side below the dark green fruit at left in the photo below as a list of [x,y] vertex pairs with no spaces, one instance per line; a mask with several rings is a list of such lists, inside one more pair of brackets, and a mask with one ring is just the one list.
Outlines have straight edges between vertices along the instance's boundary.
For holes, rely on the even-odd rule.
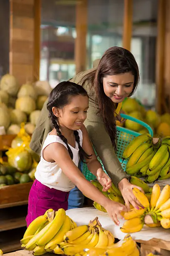
[[14,184],[0,188],[0,208],[25,204],[33,182]]

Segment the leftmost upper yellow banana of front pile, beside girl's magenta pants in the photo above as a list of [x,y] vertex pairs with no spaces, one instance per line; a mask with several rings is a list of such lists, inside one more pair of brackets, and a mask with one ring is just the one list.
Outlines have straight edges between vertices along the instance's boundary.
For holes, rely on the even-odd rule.
[[28,226],[27,230],[24,233],[23,238],[27,236],[32,236],[35,234],[38,228],[47,221],[47,217],[45,215],[41,215],[33,220],[30,225]]

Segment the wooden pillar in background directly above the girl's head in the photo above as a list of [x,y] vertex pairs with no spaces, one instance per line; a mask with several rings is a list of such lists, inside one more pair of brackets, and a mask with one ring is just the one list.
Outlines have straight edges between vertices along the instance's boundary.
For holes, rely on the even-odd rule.
[[86,69],[87,0],[76,3],[75,65],[76,74]]

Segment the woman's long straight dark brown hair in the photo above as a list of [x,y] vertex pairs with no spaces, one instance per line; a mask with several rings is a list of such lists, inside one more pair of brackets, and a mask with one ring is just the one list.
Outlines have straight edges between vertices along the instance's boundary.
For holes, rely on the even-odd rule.
[[110,136],[112,145],[116,145],[116,120],[115,120],[115,105],[112,100],[105,95],[103,89],[103,77],[107,75],[124,74],[132,72],[134,75],[133,91],[129,96],[132,96],[137,89],[139,82],[139,69],[133,54],[122,47],[111,47],[105,51],[100,62],[95,70],[82,78],[82,85],[87,82],[95,90],[96,104],[99,107],[99,113],[102,115],[105,128]]

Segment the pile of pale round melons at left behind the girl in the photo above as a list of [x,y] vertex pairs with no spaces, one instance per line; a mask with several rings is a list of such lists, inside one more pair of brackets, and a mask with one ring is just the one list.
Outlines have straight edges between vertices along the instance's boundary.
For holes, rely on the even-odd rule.
[[7,134],[18,134],[20,123],[27,122],[25,130],[32,134],[50,91],[46,81],[19,86],[13,75],[5,74],[0,80],[0,126]]

